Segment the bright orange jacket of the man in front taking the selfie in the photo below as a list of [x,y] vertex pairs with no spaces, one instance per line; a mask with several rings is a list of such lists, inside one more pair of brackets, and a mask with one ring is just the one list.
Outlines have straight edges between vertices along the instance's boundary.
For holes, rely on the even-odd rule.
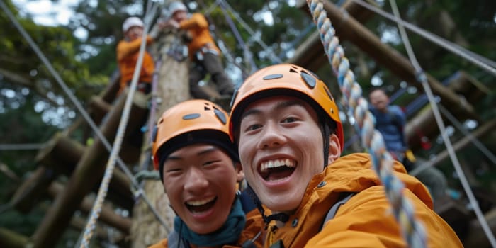
[[[427,247],[463,247],[451,227],[432,210],[432,199],[424,185],[406,174],[399,162],[394,169],[405,183],[404,193],[415,208],[416,220],[425,227]],[[322,181],[327,184],[317,186]],[[358,193],[320,230],[325,215],[342,192]],[[274,222],[270,223],[265,247],[278,240],[286,248],[407,247],[390,210],[368,154],[350,154],[312,178],[300,207],[283,227],[275,228]]]

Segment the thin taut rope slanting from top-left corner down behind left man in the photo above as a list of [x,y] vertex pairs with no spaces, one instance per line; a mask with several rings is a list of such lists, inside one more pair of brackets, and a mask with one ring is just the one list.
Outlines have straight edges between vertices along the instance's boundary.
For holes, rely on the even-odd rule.
[[[11,13],[9,8],[4,4],[4,1],[0,1],[0,8],[4,10],[4,12],[9,17],[13,26],[16,27],[16,29],[19,31],[19,33],[21,33],[23,38],[28,42],[31,49],[33,49],[33,51],[40,58],[40,60],[43,62],[43,64],[45,64],[45,67],[47,67],[50,74],[52,74],[55,81],[57,81],[57,84],[59,84],[60,87],[62,88],[62,90],[64,91],[64,93],[67,94],[67,96],[72,101],[74,106],[77,108],[79,113],[81,113],[81,115],[83,116],[84,120],[86,120],[86,122],[90,125],[91,129],[94,131],[96,136],[101,140],[103,145],[106,147],[106,150],[108,150],[110,152],[112,147],[111,147],[110,143],[108,142],[108,140],[106,139],[106,137],[103,135],[103,133],[101,133],[101,130],[98,129],[98,126],[96,125],[96,123],[94,123],[94,121],[91,119],[89,114],[83,108],[81,103],[79,103],[76,96],[74,96],[74,94],[69,89],[67,84],[64,83],[64,81],[60,77],[60,74],[58,74],[55,71],[55,69],[52,67],[52,64],[50,64],[50,61],[43,54],[43,52],[41,52],[38,45],[36,45],[36,43],[33,41],[33,38],[30,37],[30,35],[26,32],[26,30],[23,28],[23,26],[21,26],[21,24],[16,20],[16,17],[13,16],[13,13]],[[122,159],[120,159],[120,157],[117,157],[117,162],[118,162],[119,168],[125,173],[126,176],[128,176],[128,178],[130,179],[133,186],[135,186],[136,188],[140,188],[140,185],[134,179],[133,174],[129,171],[128,167],[125,166],[124,162],[122,161]],[[162,216],[159,215],[158,211],[154,208],[154,206],[150,202],[150,199],[148,199],[148,197],[145,195],[145,193],[142,191],[141,188],[139,191],[137,191],[135,193],[135,196],[143,198],[143,200],[145,201],[145,203],[147,203],[150,210],[152,210],[152,213],[155,215],[155,218],[157,218],[157,220],[159,220],[159,222],[164,226],[164,228],[167,230],[167,232],[170,232],[169,226],[167,225],[165,220],[162,218]]]

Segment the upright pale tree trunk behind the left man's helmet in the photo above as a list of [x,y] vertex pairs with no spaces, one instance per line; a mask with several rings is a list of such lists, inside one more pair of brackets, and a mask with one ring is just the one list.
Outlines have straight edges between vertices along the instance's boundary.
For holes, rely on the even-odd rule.
[[[188,62],[178,61],[167,55],[169,49],[173,48],[178,38],[174,33],[161,37],[152,47],[152,55],[155,60],[161,58],[160,67],[156,68],[158,74],[157,91],[154,95],[157,106],[150,111],[153,124],[157,123],[167,108],[176,103],[185,101],[189,96],[188,84]],[[152,128],[151,128],[152,130]],[[151,131],[150,130],[150,131]],[[141,161],[149,161],[148,168],[152,168],[150,133],[145,137],[145,147]],[[174,211],[169,207],[169,199],[164,193],[164,186],[159,180],[145,180],[142,183],[146,196],[150,199],[154,208],[157,209],[162,218],[167,222],[168,229],[172,230],[174,223]],[[133,225],[131,227],[131,247],[147,247],[166,238],[167,230],[153,215],[148,205],[140,200],[137,201],[133,210]]]

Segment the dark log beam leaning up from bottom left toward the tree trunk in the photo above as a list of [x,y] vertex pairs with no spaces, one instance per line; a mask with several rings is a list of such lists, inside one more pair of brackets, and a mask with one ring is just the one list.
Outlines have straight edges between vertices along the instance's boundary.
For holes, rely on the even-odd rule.
[[[113,110],[108,114],[106,123],[103,124],[101,132],[107,140],[113,140],[115,131],[122,115],[125,97],[118,98]],[[130,113],[133,116],[133,111]],[[135,130],[138,120],[130,118],[128,130]],[[84,196],[91,188],[99,184],[105,171],[108,152],[100,139],[96,138],[93,145],[88,147],[72,173],[64,191],[57,196],[52,208],[47,212],[45,218],[38,226],[34,239],[34,247],[54,247],[65,228],[69,225],[74,211],[77,210]]]

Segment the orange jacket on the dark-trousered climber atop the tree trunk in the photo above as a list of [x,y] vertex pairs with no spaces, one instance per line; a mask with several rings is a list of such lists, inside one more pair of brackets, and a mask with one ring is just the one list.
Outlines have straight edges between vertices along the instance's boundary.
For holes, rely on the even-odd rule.
[[191,42],[188,43],[189,57],[193,58],[196,51],[207,44],[210,49],[216,50],[220,54],[219,47],[215,45],[210,30],[208,30],[208,21],[202,13],[193,13],[191,18],[179,23],[179,28],[187,30],[191,35]]

